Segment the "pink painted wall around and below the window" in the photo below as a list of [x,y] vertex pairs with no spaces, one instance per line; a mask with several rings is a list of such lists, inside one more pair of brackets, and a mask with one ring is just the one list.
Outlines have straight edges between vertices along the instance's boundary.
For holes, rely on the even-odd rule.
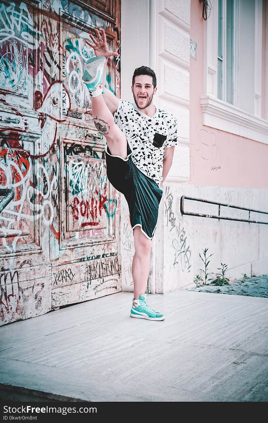
[[[204,94],[204,23],[202,3],[199,0],[192,0],[190,37],[197,42],[197,59],[190,57],[188,184],[267,188],[268,145],[202,124],[200,97]],[[265,75],[265,60],[262,62],[262,70]],[[262,87],[264,85],[263,81]]]

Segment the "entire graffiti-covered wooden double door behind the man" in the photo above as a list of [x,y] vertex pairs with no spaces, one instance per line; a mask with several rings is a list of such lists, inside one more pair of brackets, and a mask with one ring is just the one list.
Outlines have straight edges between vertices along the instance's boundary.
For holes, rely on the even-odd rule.
[[[119,197],[81,83],[89,33],[119,50],[120,1],[0,8],[0,190],[14,192],[0,213],[3,324],[121,290]],[[106,79],[119,95],[118,58]]]

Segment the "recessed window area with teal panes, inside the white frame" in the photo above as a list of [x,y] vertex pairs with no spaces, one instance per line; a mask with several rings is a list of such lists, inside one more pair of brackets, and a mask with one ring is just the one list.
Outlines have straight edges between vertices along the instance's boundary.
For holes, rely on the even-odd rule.
[[217,97],[250,113],[254,113],[255,62],[259,69],[262,66],[256,51],[256,5],[255,0],[218,0]]

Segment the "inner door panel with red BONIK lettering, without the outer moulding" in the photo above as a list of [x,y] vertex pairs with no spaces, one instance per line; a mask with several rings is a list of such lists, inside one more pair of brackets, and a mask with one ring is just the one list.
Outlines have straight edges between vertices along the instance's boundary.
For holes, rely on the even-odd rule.
[[113,190],[108,186],[104,147],[66,142],[64,165],[63,239],[72,239],[77,233],[76,242],[80,238],[82,245],[94,229],[108,240],[114,235],[117,200],[109,198]]

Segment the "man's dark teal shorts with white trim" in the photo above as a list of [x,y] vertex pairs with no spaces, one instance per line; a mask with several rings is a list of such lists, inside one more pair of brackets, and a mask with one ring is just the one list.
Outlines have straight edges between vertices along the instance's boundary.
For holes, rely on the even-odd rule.
[[144,235],[152,239],[163,191],[153,179],[137,168],[131,155],[132,151],[128,144],[127,159],[112,156],[106,145],[107,177],[113,187],[122,192],[127,200],[132,229],[139,225]]

